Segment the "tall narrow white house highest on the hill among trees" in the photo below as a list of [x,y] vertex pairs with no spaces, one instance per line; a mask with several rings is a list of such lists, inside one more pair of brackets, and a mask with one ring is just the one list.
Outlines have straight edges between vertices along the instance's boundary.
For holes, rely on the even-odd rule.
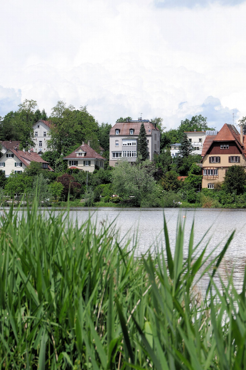
[[39,120],[33,125],[35,146],[31,151],[44,153],[47,150],[47,140],[50,139],[51,121]]

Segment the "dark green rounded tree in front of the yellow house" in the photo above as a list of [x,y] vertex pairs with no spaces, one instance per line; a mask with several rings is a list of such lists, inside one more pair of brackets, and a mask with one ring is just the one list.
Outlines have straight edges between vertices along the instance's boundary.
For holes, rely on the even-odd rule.
[[243,194],[246,189],[246,172],[243,166],[230,166],[225,174],[223,189],[227,193]]

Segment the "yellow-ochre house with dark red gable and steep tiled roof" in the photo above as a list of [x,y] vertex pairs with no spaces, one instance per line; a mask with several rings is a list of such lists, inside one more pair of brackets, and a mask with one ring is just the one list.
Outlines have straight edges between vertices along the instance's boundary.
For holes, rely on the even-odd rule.
[[207,135],[202,149],[202,187],[213,189],[216,181],[224,181],[230,166],[246,166],[246,135],[233,125],[223,125],[217,135]]

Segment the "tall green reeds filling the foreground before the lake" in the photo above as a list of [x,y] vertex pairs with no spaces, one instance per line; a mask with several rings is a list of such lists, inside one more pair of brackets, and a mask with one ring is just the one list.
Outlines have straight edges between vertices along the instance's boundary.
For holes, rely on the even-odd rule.
[[38,206],[0,215],[1,369],[245,369],[246,269],[239,292],[214,281],[234,232],[206,255],[193,223],[185,256],[180,218],[172,254],[164,219],[165,246],[137,256],[114,223]]

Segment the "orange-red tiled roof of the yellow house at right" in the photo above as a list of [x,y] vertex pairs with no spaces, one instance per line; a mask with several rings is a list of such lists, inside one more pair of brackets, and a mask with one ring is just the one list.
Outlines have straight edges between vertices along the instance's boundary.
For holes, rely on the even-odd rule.
[[[246,135],[243,135],[243,144],[246,142],[245,138]],[[207,136],[203,143],[202,157],[204,157],[207,154],[208,149],[210,148],[214,141],[216,142],[234,141],[237,144],[237,147],[240,149],[240,151],[242,151],[242,154],[246,158],[245,146],[242,145],[240,141],[240,134],[235,126],[225,123],[217,135]]]

